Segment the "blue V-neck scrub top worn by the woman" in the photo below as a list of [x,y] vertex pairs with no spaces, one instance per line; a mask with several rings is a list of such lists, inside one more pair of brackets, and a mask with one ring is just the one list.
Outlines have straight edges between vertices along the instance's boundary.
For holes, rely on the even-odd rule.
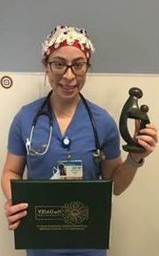
[[[14,117],[14,120],[10,125],[8,150],[10,153],[26,156],[28,179],[50,179],[52,177],[52,168],[57,166],[57,162],[59,160],[66,160],[68,155],[68,148],[62,145],[63,136],[61,135],[59,124],[53,112],[52,141],[48,152],[45,153],[45,155],[27,155],[25,147],[26,139],[30,138],[33,118],[44,100],[45,99],[39,99],[33,103],[25,105],[21,110],[18,111],[16,117]],[[108,114],[107,110],[103,110],[96,104],[89,101],[87,101],[87,103],[93,113],[93,118],[100,140],[100,146],[103,148],[106,158],[114,159],[118,157],[121,153],[120,139],[114,119]],[[49,131],[50,127],[48,117],[39,117],[32,137],[32,147],[34,149],[38,150],[42,146],[45,146],[46,142],[48,141]],[[72,160],[82,160],[83,179],[99,179],[100,171],[94,164],[92,157],[93,150],[95,150],[93,127],[86,107],[81,100],[79,101],[71,123],[66,129],[65,136],[71,139],[69,151],[72,155]],[[54,255],[53,252],[73,252],[73,255],[75,255],[75,252],[91,253],[86,253],[86,256],[106,255],[105,250],[86,249],[30,250],[28,251],[28,255],[50,256]],[[95,254],[93,254],[93,252]]]

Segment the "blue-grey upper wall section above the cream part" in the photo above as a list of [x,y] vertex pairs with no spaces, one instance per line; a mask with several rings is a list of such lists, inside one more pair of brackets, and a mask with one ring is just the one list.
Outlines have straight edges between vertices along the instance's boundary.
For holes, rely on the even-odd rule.
[[1,0],[0,71],[41,71],[41,44],[56,25],[86,27],[93,72],[159,73],[158,0]]

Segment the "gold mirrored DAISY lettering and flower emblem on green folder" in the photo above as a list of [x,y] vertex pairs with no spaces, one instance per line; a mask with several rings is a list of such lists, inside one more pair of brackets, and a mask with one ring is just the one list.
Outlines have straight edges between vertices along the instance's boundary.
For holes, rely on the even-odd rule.
[[63,205],[36,205],[35,219],[39,230],[85,230],[89,207],[79,201]]

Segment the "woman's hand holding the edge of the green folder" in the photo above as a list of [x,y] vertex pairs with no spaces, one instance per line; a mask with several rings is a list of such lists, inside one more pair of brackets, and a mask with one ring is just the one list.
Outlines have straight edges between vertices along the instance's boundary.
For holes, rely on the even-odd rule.
[[27,215],[28,203],[17,203],[12,205],[11,200],[8,200],[5,205],[5,215],[8,220],[8,228],[13,231],[17,229],[17,226],[20,224],[22,217]]

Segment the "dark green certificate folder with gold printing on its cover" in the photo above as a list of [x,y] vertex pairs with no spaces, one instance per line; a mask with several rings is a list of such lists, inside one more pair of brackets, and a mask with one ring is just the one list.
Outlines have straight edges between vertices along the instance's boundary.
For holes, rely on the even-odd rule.
[[109,247],[112,181],[11,180],[12,203],[28,203],[16,249]]

